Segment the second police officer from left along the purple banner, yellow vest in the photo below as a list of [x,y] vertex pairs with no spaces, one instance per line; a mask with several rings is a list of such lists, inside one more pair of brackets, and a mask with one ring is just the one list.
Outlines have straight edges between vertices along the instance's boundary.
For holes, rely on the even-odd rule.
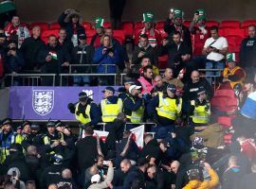
[[100,104],[102,122],[113,122],[119,112],[122,112],[122,100],[114,95],[115,90],[113,87],[106,87],[102,93],[104,93]]

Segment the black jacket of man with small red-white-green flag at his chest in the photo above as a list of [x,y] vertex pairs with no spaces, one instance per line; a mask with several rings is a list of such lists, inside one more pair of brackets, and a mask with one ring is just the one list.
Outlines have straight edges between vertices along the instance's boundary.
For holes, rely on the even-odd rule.
[[[56,53],[57,54],[57,60],[53,59],[46,62],[46,57],[50,53]],[[61,74],[64,72],[64,67],[62,64],[65,61],[70,62],[70,56],[67,53],[66,49],[63,48],[60,45],[57,45],[56,47],[51,47],[49,45],[46,45],[46,48],[43,48],[40,50],[38,61],[42,65],[42,73],[45,74]]]

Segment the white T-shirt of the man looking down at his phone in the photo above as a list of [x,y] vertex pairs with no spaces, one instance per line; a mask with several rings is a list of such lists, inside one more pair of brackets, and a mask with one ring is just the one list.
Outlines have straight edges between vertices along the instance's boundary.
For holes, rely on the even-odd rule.
[[[207,39],[204,48],[207,48],[210,43],[213,43],[215,40],[213,38]],[[211,44],[210,46],[215,47],[216,49],[223,50],[224,48],[228,47],[228,41],[224,37],[219,37],[215,43]],[[223,60],[225,56],[221,53],[216,53],[216,52],[210,52],[210,54],[207,56],[208,60],[214,60],[214,61],[219,61]]]

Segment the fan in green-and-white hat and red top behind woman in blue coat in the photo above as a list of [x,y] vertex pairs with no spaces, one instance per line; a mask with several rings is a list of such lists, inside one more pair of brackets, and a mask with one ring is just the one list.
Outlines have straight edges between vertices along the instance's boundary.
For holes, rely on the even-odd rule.
[[92,37],[90,45],[94,48],[99,48],[101,46],[101,37],[105,33],[104,30],[104,19],[101,17],[97,17],[95,19],[95,29],[96,34]]

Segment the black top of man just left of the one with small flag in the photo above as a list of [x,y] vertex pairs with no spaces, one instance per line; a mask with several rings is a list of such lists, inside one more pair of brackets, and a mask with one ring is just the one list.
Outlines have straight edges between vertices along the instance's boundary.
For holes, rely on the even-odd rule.
[[25,70],[33,70],[35,66],[40,63],[38,61],[38,54],[46,44],[40,39],[34,39],[33,37],[25,39],[21,45],[21,52],[23,53],[25,64]]

